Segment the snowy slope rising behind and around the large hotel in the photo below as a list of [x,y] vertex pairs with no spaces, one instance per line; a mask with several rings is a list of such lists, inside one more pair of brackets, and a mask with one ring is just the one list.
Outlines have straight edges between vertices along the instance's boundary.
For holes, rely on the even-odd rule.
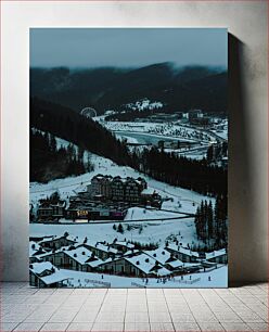
[[[68,145],[67,141],[56,138],[59,145]],[[75,146],[75,145],[74,145]],[[76,146],[75,146],[76,148]],[[197,204],[202,200],[213,200],[201,195],[194,191],[182,189],[166,184],[164,182],[154,180],[134,169],[127,166],[118,166],[108,158],[102,156],[85,153],[85,159],[90,158],[94,165],[94,170],[86,173],[77,177],[67,177],[64,179],[52,180],[48,183],[30,182],[30,203],[37,204],[40,199],[51,195],[53,192],[59,191],[62,199],[67,199],[74,195],[78,191],[85,190],[86,186],[91,182],[91,178],[98,174],[121,176],[121,177],[143,177],[148,182],[150,189],[155,189],[163,197],[167,197],[170,201],[164,202],[163,208],[174,208],[178,212],[194,213]]]

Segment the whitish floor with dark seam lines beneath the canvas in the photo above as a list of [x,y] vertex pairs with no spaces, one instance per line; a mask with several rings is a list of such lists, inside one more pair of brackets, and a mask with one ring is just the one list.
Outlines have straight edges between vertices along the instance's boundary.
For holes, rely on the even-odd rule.
[[268,331],[268,284],[230,289],[30,289],[1,284],[0,331]]

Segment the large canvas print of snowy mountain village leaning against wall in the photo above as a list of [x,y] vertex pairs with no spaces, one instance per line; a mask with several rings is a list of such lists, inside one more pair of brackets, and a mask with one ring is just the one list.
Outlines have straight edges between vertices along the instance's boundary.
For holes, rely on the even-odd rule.
[[226,288],[225,28],[31,28],[29,282]]

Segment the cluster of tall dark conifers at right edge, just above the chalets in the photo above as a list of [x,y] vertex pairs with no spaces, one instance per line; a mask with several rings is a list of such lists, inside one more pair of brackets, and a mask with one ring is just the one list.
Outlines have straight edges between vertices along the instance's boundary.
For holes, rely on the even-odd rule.
[[195,228],[197,238],[204,243],[215,240],[215,248],[227,246],[228,243],[228,217],[227,197],[218,195],[215,207],[212,202],[202,201],[195,215]]

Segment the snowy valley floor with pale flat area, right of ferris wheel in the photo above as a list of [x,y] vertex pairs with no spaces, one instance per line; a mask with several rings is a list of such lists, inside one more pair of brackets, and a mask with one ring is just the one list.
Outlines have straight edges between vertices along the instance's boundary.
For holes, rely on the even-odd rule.
[[[107,130],[115,133],[116,138],[126,140],[129,144],[141,144],[158,146],[159,141],[170,143],[189,142],[191,146],[180,149],[167,148],[166,151],[177,153],[192,159],[202,159],[210,144],[217,140],[227,140],[227,120],[215,125],[213,129],[202,129],[180,123],[134,123],[134,122],[105,122],[103,118],[95,118]],[[131,150],[132,146],[129,146]]]

